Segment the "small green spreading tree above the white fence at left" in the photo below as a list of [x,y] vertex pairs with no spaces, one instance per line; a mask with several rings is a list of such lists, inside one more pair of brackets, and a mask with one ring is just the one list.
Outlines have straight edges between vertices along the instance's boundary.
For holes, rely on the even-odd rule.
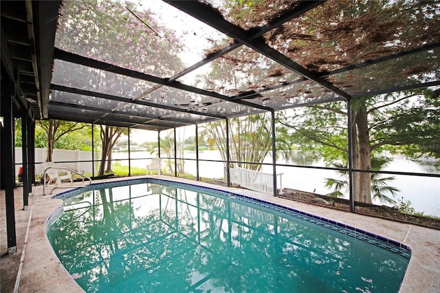
[[38,120],[38,126],[45,130],[47,138],[47,157],[46,162],[52,162],[52,154],[54,153],[54,146],[61,138],[68,133],[78,131],[87,127],[85,123],[63,121],[63,120]]

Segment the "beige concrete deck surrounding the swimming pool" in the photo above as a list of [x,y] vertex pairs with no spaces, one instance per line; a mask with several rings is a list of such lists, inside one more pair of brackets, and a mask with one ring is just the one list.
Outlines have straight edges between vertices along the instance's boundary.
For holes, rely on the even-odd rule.
[[[393,239],[412,250],[399,292],[440,292],[440,230],[312,206],[239,188],[226,188],[164,175],[152,177],[209,186],[264,199]],[[140,177],[95,180],[94,183],[135,178]],[[61,193],[67,190],[56,191]],[[28,210],[23,210],[23,188],[14,189],[17,253],[8,255],[5,191],[0,191],[0,292],[83,292],[58,261],[45,233],[47,217],[63,202],[61,199],[52,199],[53,194],[43,195],[43,186],[34,186],[33,194],[29,197]]]

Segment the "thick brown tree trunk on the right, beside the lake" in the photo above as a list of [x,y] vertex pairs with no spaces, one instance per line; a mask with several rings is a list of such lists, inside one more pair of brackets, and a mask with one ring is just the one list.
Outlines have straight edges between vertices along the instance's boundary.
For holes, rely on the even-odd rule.
[[[361,170],[371,170],[371,145],[369,138],[368,117],[365,103],[359,103],[355,111],[357,127],[357,147],[353,167]],[[371,204],[371,173],[356,173],[353,180],[355,201]]]

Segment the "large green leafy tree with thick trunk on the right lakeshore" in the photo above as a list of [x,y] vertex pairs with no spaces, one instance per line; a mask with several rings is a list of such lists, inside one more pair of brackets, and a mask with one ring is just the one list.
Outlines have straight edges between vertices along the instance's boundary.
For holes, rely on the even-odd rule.
[[[347,127],[344,102],[296,110],[281,117],[279,122],[294,131],[292,141],[305,150],[321,153],[329,164],[339,160],[347,166],[347,135],[351,131],[353,169],[372,170],[372,155],[384,149],[439,158],[437,149],[427,147],[439,141],[440,102],[437,97],[437,91],[423,89],[353,100],[351,127]],[[354,173],[356,201],[372,202],[373,179],[370,173]]]

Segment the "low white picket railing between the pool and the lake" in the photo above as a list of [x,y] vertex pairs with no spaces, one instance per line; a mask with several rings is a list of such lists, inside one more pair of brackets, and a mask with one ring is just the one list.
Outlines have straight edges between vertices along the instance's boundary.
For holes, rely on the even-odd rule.
[[[230,181],[233,184],[239,184],[243,188],[251,191],[259,191],[261,193],[274,194],[274,175],[271,173],[263,173],[243,168],[231,168]],[[225,168],[225,178],[226,178]],[[277,191],[283,190],[282,182],[283,173],[276,174]]]

